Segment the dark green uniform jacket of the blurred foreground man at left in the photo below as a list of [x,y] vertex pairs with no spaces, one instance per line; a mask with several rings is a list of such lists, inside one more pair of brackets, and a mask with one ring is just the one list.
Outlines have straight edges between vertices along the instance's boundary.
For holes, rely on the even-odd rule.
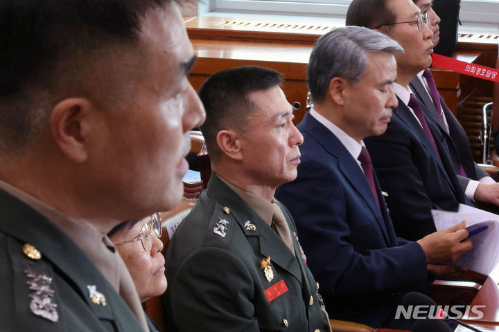
[[143,331],[128,304],[60,228],[2,190],[0,219],[1,331]]

